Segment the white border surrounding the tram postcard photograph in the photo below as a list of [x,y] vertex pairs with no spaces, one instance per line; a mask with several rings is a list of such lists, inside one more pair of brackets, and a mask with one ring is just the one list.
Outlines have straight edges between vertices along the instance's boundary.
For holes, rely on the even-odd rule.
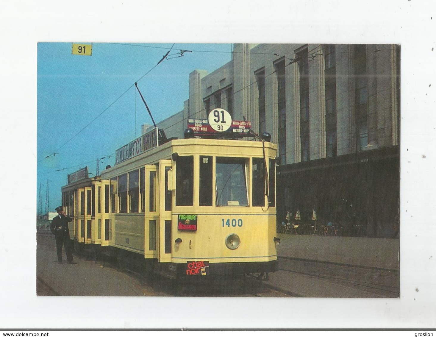
[[[1,327],[435,328],[435,2],[349,3],[2,2]],[[230,305],[225,298],[37,298],[36,64],[43,41],[401,44],[401,298],[241,298]]]

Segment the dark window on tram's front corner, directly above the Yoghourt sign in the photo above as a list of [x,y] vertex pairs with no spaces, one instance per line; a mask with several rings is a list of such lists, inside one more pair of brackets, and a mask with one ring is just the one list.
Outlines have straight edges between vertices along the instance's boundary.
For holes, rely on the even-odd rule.
[[176,206],[192,206],[194,204],[194,157],[179,157],[176,165]]

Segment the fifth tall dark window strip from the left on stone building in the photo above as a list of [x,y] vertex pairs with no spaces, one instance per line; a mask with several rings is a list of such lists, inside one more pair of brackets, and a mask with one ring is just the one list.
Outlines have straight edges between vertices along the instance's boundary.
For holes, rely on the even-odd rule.
[[356,120],[356,149],[368,145],[368,73],[366,45],[354,46],[354,107]]

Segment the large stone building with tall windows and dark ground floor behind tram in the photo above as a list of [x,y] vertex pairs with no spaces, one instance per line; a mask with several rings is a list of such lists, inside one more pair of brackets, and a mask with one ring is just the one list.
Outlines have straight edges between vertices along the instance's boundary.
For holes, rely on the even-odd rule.
[[[400,47],[235,44],[232,61],[189,76],[184,109],[158,123],[183,137],[216,107],[279,145],[277,219],[360,225],[398,235]],[[280,201],[280,202],[279,202]]]

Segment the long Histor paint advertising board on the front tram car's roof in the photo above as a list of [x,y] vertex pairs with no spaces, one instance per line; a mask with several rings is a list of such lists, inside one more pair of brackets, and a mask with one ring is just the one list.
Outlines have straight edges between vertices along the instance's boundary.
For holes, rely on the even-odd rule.
[[154,128],[150,132],[120,147],[115,151],[115,165],[159,146],[158,135],[157,128]]

